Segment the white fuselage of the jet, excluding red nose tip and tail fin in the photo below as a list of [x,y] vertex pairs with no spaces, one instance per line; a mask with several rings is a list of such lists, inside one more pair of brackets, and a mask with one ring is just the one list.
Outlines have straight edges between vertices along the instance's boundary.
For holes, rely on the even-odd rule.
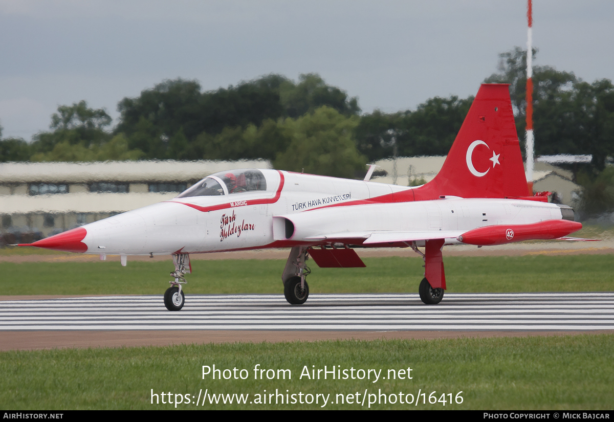
[[[263,173],[266,191],[176,198],[87,224],[82,240],[86,252],[168,255],[320,245],[327,243],[329,234],[344,232],[353,239],[357,232],[442,232],[449,235],[443,236],[446,244],[454,244],[459,234],[474,228],[562,218],[557,205],[545,202],[448,197],[378,203],[377,198],[411,188],[273,170]],[[360,200],[373,203],[343,205]],[[290,237],[276,232],[274,220],[282,216],[295,226]],[[390,246],[385,243],[382,246]]]

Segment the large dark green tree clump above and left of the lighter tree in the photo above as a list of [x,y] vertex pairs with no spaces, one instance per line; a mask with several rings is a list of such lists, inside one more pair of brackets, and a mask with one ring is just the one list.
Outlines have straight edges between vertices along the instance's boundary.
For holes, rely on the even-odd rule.
[[[165,80],[138,98],[120,101],[114,132],[126,134],[130,148],[138,148],[147,158],[274,158],[281,150],[273,148],[286,143],[277,121],[322,105],[343,115],[360,111],[356,98],[348,98],[316,74],[300,75],[298,83],[270,74],[208,92],[201,92],[195,80]],[[273,142],[260,139],[263,125]]]

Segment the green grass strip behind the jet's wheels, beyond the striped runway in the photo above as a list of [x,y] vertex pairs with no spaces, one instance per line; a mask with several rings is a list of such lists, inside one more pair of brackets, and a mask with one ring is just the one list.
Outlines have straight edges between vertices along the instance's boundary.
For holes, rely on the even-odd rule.
[[[424,274],[420,258],[365,258],[366,268],[319,268],[311,293],[414,293]],[[192,262],[187,294],[281,293],[280,259]],[[614,257],[486,256],[445,258],[449,293],[614,291]],[[162,294],[169,261],[0,263],[2,294]]]

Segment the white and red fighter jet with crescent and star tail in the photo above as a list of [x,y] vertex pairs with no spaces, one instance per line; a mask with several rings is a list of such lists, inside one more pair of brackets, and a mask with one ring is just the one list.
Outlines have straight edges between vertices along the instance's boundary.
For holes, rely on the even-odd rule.
[[410,247],[424,258],[420,297],[437,304],[446,289],[443,245],[558,239],[581,227],[570,207],[529,192],[508,86],[482,85],[441,171],[425,185],[219,172],[171,201],[20,246],[120,255],[123,265],[128,255],[172,255],[169,310],[184,305],[190,253],[289,247],[284,293],[303,304],[309,256],[321,267],[363,267],[355,248]]

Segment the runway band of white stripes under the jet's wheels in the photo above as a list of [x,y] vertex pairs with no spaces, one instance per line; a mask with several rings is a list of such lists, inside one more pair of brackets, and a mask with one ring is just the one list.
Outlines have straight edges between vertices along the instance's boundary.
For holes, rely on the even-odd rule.
[[312,294],[300,306],[282,295],[188,294],[179,312],[162,296],[2,301],[0,331],[23,330],[461,330],[614,329],[614,293]]

